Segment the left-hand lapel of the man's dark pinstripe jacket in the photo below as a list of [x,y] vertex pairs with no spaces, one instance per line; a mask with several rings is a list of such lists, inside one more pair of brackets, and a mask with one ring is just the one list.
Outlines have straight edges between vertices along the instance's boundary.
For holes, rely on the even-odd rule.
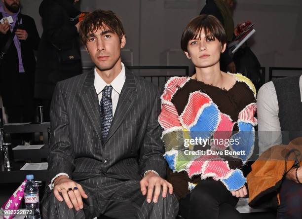
[[88,114],[88,117],[90,118],[90,121],[100,139],[100,142],[102,143],[101,116],[99,110],[100,106],[94,87],[94,71],[87,74],[80,97]]

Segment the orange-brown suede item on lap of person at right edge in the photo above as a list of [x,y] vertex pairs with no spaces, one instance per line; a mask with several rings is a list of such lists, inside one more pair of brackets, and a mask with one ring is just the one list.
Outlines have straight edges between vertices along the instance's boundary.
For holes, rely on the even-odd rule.
[[286,173],[298,161],[302,165],[302,138],[289,145],[272,146],[252,164],[247,176],[249,206],[276,208],[280,205],[279,189]]

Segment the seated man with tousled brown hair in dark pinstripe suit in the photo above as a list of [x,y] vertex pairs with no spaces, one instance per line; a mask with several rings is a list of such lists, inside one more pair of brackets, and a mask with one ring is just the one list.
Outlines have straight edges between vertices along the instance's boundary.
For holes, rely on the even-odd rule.
[[121,21],[97,10],[80,26],[95,70],[57,84],[44,218],[175,218],[157,123],[160,90],[125,70]]

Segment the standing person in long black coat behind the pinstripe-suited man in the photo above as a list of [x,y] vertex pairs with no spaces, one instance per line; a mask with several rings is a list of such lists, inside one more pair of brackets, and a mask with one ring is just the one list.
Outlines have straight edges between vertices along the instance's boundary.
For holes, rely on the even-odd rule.
[[44,120],[49,121],[49,108],[58,81],[82,73],[78,41],[81,14],[78,0],[43,0],[39,7],[43,34],[38,49],[35,98],[44,106]]

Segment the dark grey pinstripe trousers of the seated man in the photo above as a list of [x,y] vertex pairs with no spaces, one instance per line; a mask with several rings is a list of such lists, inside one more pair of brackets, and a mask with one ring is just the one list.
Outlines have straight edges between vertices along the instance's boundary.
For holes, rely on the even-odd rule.
[[137,180],[95,177],[77,183],[88,195],[87,199],[83,198],[84,208],[69,209],[47,186],[42,200],[43,219],[92,219],[101,215],[113,219],[174,219],[178,214],[174,194],[168,193],[166,198],[160,194],[157,203],[148,203]]

